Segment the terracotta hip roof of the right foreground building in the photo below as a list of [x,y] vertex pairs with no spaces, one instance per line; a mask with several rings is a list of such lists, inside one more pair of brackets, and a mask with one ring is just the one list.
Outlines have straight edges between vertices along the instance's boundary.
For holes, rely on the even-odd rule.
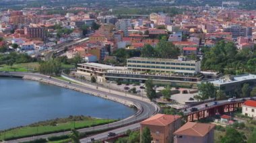
[[205,136],[205,134],[207,134],[214,127],[214,124],[187,122],[176,132],[174,132],[174,134],[183,136]]

